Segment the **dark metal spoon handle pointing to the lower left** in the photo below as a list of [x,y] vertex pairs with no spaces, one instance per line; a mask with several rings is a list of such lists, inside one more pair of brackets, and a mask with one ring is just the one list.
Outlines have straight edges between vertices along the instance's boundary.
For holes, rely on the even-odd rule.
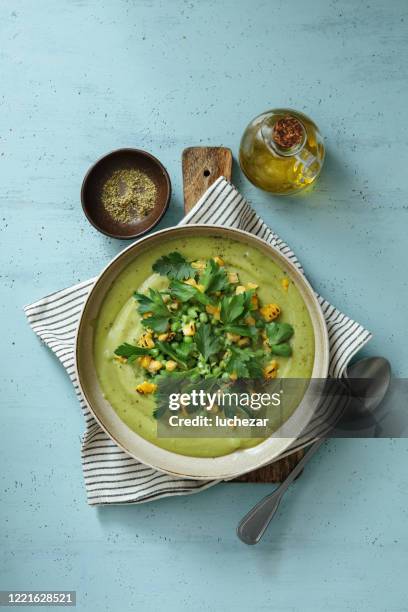
[[257,544],[266,531],[275,512],[277,511],[280,501],[285,494],[289,485],[294,481],[296,476],[302,471],[309,459],[315,454],[320,446],[325,441],[325,438],[317,440],[306,455],[293,468],[289,476],[285,478],[282,484],[275,489],[270,495],[267,495],[258,502],[240,521],[237,527],[237,535],[245,544]]

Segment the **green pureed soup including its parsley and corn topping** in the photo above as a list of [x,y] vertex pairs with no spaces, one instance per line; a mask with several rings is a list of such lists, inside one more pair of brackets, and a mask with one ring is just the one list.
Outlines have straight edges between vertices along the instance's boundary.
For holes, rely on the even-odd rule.
[[[153,271],[154,265],[159,273]],[[221,290],[211,292],[211,288]],[[146,324],[152,316],[151,289],[158,299],[158,310],[150,319],[155,329]],[[171,313],[167,326],[163,304]],[[241,318],[234,320],[239,312]],[[268,343],[279,341],[279,336],[283,341],[271,349]],[[314,363],[313,327],[295,284],[264,252],[235,240],[173,239],[138,255],[110,287],[97,318],[94,359],[104,396],[133,431],[178,454],[218,457],[263,440],[228,433],[202,438],[158,436],[157,382],[177,375],[186,364],[203,377],[234,380],[232,355],[242,357],[244,372],[246,366],[258,366],[265,378],[309,379]],[[254,376],[253,371],[249,374]]]

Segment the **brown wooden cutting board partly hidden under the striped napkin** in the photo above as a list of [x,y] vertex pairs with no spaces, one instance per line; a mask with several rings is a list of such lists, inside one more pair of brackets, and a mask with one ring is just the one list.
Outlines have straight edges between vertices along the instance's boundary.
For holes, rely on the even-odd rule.
[[[232,153],[225,147],[189,147],[183,151],[182,167],[184,211],[188,213],[220,176],[231,180]],[[282,482],[302,457],[303,451],[292,453],[284,459],[245,474],[236,481]]]

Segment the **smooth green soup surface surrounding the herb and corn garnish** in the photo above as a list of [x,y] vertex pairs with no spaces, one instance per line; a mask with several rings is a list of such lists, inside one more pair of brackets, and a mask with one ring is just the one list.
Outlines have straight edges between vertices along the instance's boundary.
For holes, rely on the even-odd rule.
[[258,296],[263,304],[278,303],[280,321],[290,323],[295,333],[292,356],[276,357],[279,376],[308,379],[314,363],[314,334],[306,305],[292,281],[284,287],[285,273],[256,248],[241,242],[218,237],[170,240],[137,257],[113,283],[100,309],[95,333],[94,356],[96,371],[106,399],[119,417],[133,431],[161,448],[192,457],[218,457],[239,448],[261,442],[259,438],[217,437],[186,438],[158,437],[157,421],[153,417],[154,395],[140,395],[136,386],[145,379],[143,369],[114,359],[115,349],[122,343],[136,344],[143,332],[135,291],[149,287],[164,289],[166,278],[152,273],[153,263],[172,251],[181,252],[188,260],[221,256],[231,272],[237,272],[243,284],[259,285]]

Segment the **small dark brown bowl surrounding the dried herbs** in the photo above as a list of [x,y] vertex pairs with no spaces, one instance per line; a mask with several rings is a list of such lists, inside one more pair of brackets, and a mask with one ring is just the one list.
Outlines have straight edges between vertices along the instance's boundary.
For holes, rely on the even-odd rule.
[[[156,202],[143,219],[115,221],[102,205],[102,189],[113,172],[127,168],[137,168],[151,178],[157,189]],[[118,149],[104,155],[88,170],[81,188],[82,208],[88,221],[103,234],[122,240],[141,236],[157,225],[167,210],[170,196],[171,183],[166,168],[153,155],[140,149]]]

